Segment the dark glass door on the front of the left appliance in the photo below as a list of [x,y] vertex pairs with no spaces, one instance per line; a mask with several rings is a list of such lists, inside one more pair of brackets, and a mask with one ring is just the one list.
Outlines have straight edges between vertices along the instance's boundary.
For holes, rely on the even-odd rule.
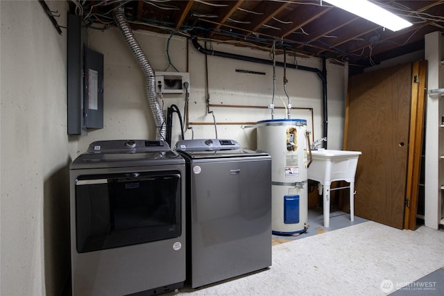
[[85,175],[76,180],[79,253],[178,237],[180,172]]

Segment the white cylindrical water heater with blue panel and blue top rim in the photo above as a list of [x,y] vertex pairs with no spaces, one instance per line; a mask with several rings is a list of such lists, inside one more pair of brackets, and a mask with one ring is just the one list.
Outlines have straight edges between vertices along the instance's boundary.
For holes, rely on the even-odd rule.
[[305,119],[257,122],[257,149],[271,155],[273,234],[303,233],[308,227],[308,143]]

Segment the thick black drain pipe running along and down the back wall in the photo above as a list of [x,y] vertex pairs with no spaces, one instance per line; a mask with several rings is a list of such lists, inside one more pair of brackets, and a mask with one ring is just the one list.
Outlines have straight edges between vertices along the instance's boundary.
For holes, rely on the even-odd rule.
[[[252,58],[247,55],[237,55],[234,53],[224,53],[222,51],[213,51],[213,50],[209,50],[209,49],[204,49],[203,46],[200,46],[200,44],[198,43],[197,37],[191,37],[191,42],[193,43],[193,45],[197,51],[199,51],[200,53],[203,53],[205,55],[216,55],[216,56],[219,56],[222,58],[231,58],[234,60],[243,60],[246,62],[257,62],[259,64],[273,65],[272,60],[264,60],[264,59],[259,59],[259,58]],[[323,58],[323,62],[322,62],[323,70],[321,71],[317,68],[305,67],[305,66],[300,66],[297,64],[285,65],[283,62],[275,62],[275,65],[278,67],[288,67],[291,69],[309,71],[309,72],[316,73],[318,75],[318,77],[321,79],[322,93],[323,93],[323,137],[327,138],[327,125],[328,125],[328,120],[327,120],[327,69],[325,67],[325,64],[326,64],[326,60],[325,60],[325,58]],[[327,148],[327,141],[325,141],[325,148]]]

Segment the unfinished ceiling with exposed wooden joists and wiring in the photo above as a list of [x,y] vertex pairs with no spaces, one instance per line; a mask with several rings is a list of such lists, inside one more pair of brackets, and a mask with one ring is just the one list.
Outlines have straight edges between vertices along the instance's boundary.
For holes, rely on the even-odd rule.
[[114,26],[123,6],[134,30],[229,42],[276,54],[309,55],[370,67],[424,48],[424,35],[444,31],[444,1],[374,1],[413,26],[392,32],[320,0],[70,1],[91,28]]

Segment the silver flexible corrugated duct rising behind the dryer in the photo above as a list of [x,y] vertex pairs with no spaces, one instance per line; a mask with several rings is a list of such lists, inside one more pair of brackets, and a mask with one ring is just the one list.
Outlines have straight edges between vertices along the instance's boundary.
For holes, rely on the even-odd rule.
[[155,73],[153,68],[146,58],[144,51],[140,48],[139,42],[137,42],[133,31],[131,30],[128,22],[126,21],[125,12],[123,12],[123,7],[118,7],[112,10],[112,15],[116,21],[117,27],[120,29],[123,38],[125,38],[126,43],[130,46],[131,51],[135,55],[137,62],[139,62],[142,71],[146,78],[146,95],[148,96],[148,103],[151,107],[151,112],[153,112],[155,126],[156,126],[156,139],[166,139],[167,136],[167,125],[165,124],[165,116],[162,112],[162,104],[160,104],[159,98],[155,92]]

